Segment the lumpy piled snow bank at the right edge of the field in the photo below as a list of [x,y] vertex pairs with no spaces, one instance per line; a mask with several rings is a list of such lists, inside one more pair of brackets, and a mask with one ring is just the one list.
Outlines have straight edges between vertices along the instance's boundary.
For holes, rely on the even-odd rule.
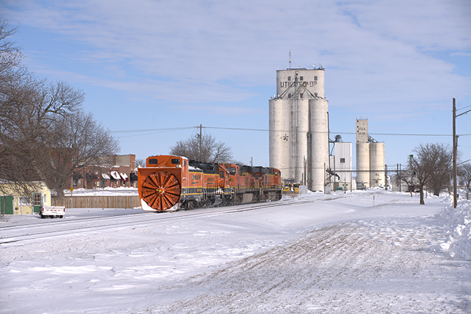
[[471,260],[471,201],[460,197],[456,208],[453,208],[453,197],[447,197],[444,202],[450,205],[434,215],[434,218],[442,220],[448,234],[447,241],[440,244],[440,250],[448,252],[451,257]]

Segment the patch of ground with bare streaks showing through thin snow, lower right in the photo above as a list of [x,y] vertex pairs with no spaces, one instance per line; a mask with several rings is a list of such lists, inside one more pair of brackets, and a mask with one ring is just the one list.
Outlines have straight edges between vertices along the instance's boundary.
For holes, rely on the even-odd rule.
[[[163,287],[149,313],[469,313],[469,262],[427,250],[438,234],[403,220],[315,230],[225,269]],[[458,276],[451,286],[444,276]],[[458,280],[461,277],[461,283]],[[466,286],[468,285],[468,286]]]

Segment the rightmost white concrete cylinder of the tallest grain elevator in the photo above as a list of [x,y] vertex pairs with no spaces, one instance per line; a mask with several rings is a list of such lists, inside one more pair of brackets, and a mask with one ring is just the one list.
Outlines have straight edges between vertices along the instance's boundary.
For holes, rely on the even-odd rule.
[[309,100],[311,109],[311,190],[324,191],[329,167],[329,103],[323,98]]

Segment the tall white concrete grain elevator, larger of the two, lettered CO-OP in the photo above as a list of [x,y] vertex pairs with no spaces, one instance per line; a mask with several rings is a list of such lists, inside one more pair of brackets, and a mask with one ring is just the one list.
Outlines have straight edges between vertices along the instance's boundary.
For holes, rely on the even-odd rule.
[[276,95],[269,100],[269,158],[283,180],[324,191],[329,168],[324,68],[276,71]]

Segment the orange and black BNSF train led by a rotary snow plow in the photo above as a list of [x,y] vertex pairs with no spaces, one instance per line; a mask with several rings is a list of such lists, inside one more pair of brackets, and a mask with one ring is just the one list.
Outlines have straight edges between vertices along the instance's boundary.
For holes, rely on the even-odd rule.
[[271,167],[212,164],[181,156],[151,156],[138,169],[144,211],[176,211],[280,200],[281,173]]

